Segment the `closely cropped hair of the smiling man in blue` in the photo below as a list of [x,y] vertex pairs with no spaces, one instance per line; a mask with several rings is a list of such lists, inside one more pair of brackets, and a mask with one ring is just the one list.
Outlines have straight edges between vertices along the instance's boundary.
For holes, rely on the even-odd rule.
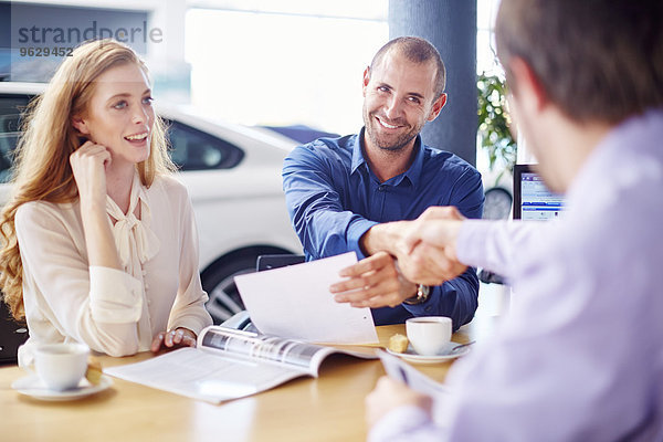
[[391,49],[398,50],[411,62],[425,63],[428,61],[432,61],[435,64],[434,99],[438,99],[444,92],[444,86],[446,84],[446,70],[444,67],[444,63],[442,62],[442,57],[440,56],[440,52],[438,52],[435,46],[433,46],[428,40],[420,39],[418,36],[396,38],[387,42],[387,44],[380,48],[380,50],[376,53],[370,62],[371,71],[376,64],[382,61],[385,54],[387,54],[387,52],[389,52]]

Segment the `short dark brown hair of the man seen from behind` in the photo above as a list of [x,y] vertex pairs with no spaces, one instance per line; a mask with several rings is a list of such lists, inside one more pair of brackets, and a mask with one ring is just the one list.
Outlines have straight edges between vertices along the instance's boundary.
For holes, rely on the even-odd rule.
[[617,124],[663,106],[661,0],[502,0],[495,27],[507,82],[523,59],[577,122]]

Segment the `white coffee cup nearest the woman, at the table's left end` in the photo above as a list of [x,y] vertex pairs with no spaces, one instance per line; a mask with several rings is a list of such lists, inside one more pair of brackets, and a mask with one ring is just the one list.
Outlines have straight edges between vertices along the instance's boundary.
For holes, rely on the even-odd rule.
[[22,368],[36,372],[42,383],[56,391],[76,388],[87,370],[90,348],[83,344],[39,344],[25,349]]

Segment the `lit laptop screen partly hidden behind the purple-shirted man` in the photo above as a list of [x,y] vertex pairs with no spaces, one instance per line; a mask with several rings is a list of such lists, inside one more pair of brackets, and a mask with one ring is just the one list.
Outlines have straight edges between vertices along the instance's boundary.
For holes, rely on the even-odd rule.
[[514,220],[546,221],[562,209],[562,197],[549,191],[529,166],[514,166]]

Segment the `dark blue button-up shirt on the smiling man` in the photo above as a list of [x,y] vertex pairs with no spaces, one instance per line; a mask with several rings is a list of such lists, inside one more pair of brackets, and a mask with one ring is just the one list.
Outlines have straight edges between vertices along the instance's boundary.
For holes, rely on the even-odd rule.
[[[359,135],[320,138],[295,148],[283,166],[283,189],[293,227],[306,260],[355,251],[366,257],[359,240],[381,222],[413,220],[431,206],[455,206],[467,218],[481,218],[481,175],[453,154],[414,145],[410,168],[385,182],[364,158]],[[433,287],[419,305],[372,309],[377,325],[413,316],[450,316],[454,328],[469,323],[477,306],[478,280],[473,269]]]

